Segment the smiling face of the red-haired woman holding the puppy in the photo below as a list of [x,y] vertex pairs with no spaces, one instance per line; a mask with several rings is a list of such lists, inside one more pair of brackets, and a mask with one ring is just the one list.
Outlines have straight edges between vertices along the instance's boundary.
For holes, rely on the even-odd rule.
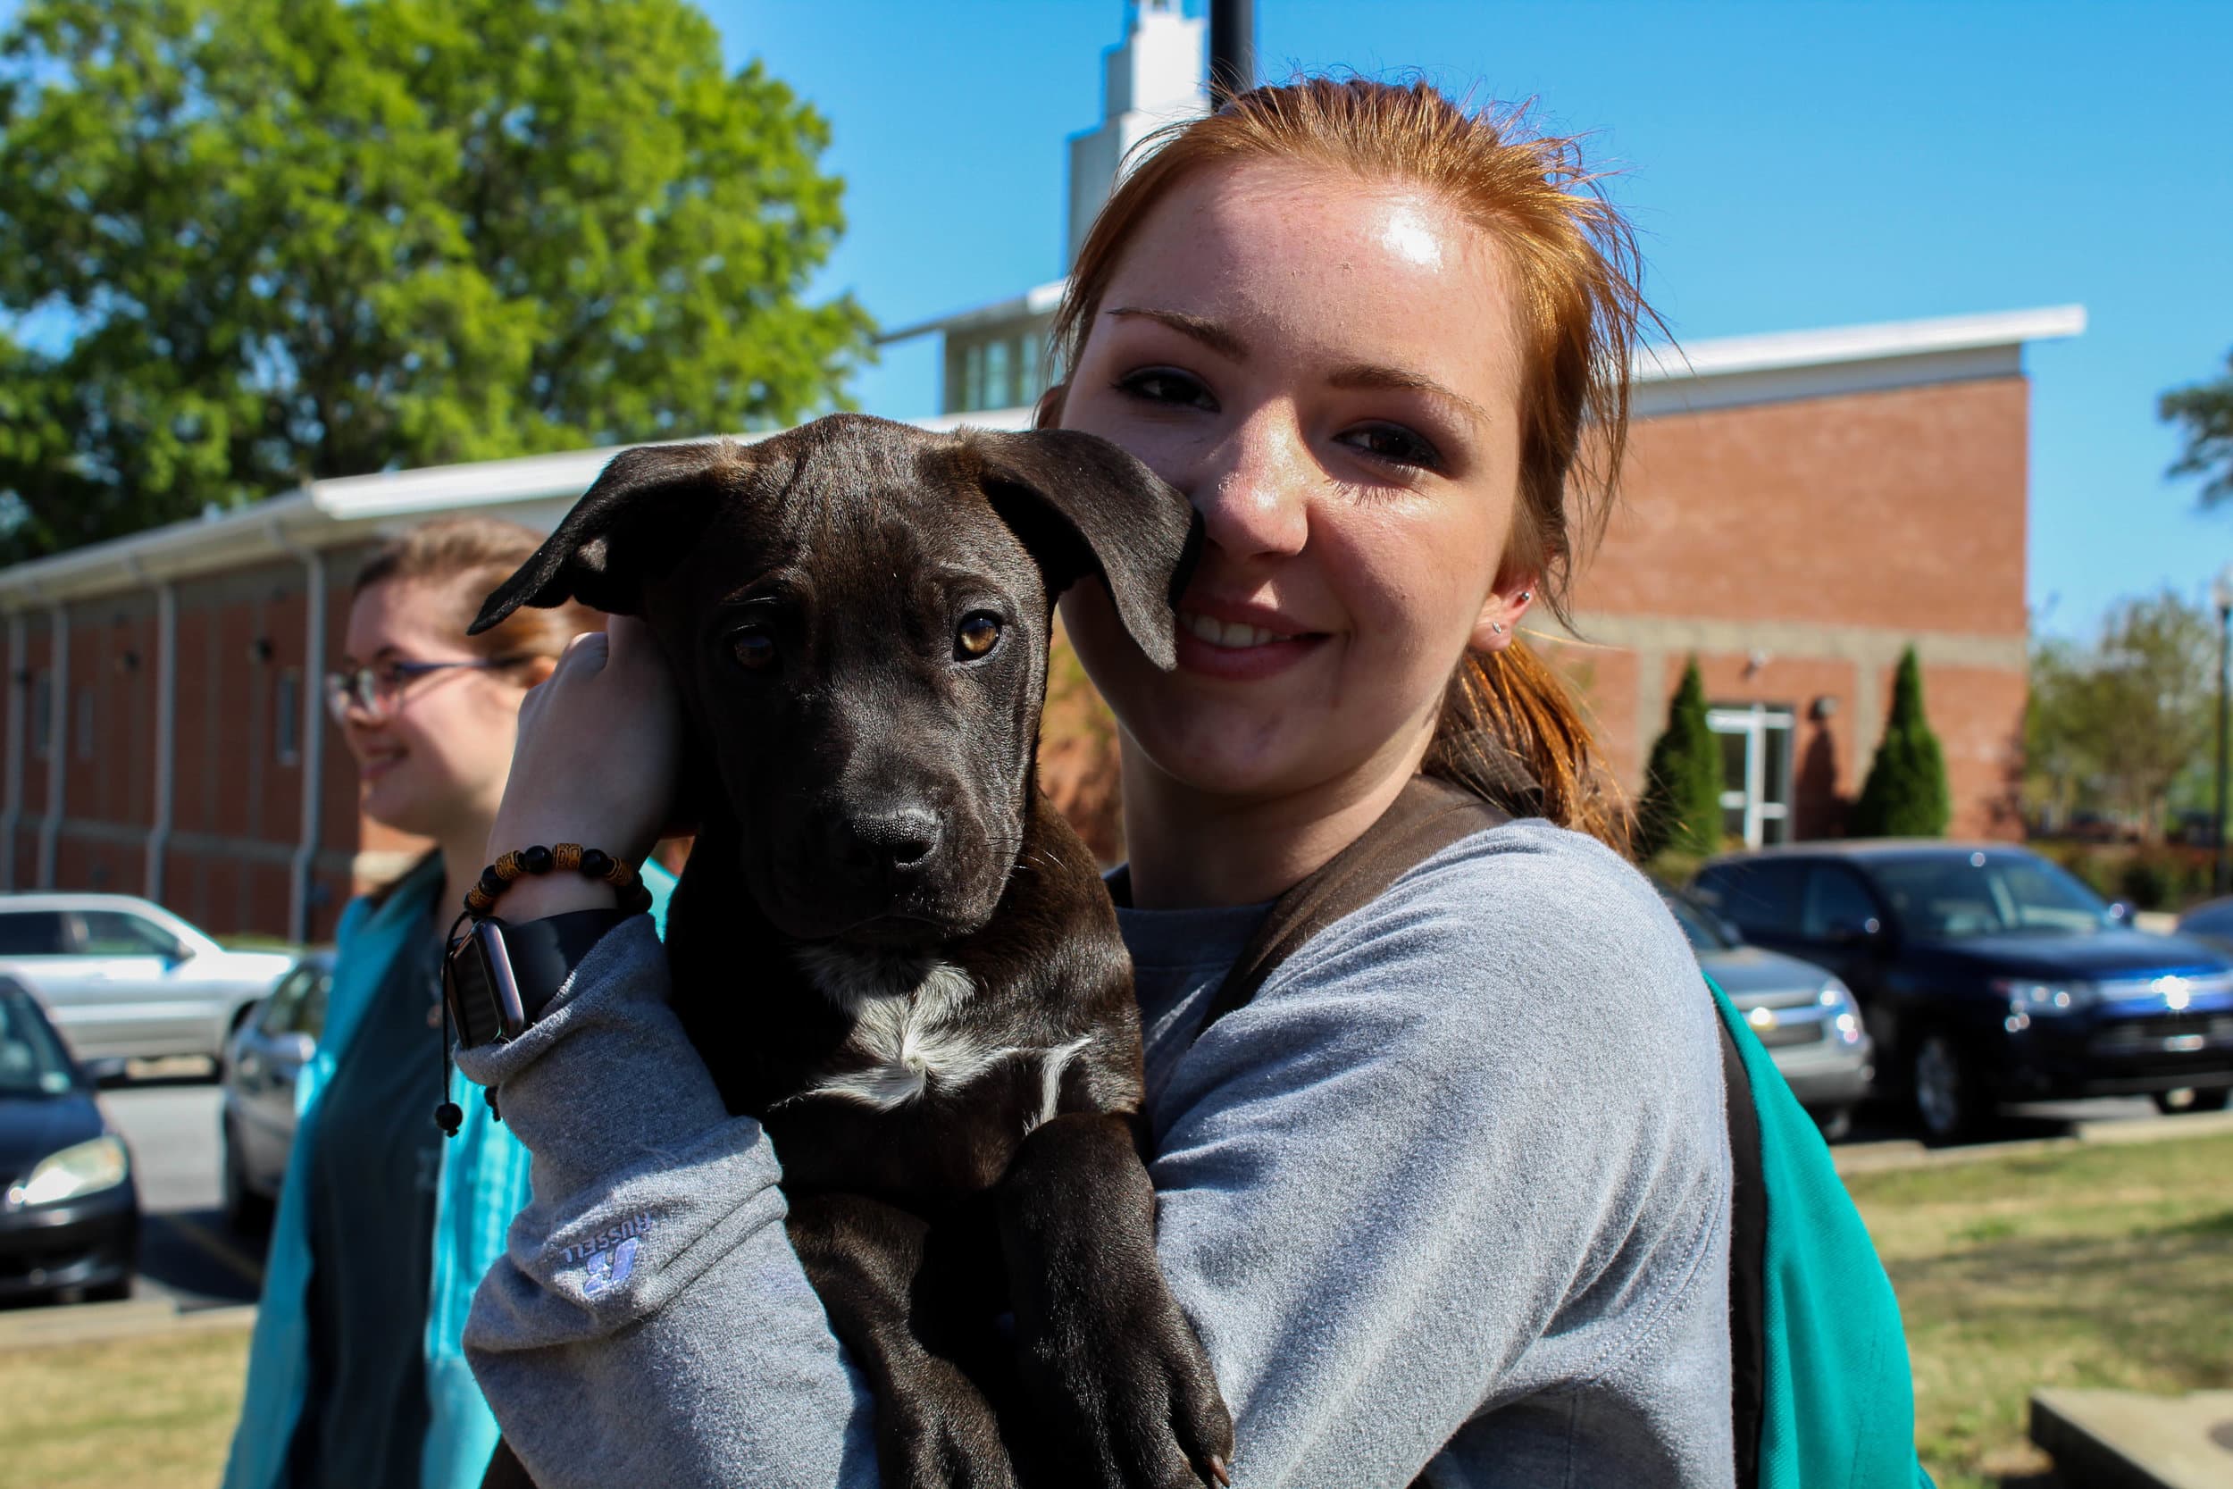
[[1152,770],[1280,797],[1416,761],[1460,652],[1503,645],[1525,605],[1527,576],[1496,585],[1514,326],[1494,241],[1425,192],[1242,165],[1157,203],[1061,417],[1146,460],[1208,529],[1172,674],[1099,585],[1063,601]]

